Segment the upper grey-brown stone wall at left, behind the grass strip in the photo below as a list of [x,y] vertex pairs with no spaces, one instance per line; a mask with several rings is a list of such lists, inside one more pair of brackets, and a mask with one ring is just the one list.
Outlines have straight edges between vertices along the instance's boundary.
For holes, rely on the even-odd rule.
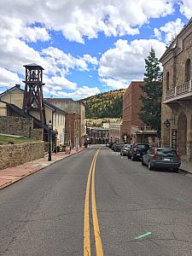
[[32,137],[43,140],[43,129],[33,129],[32,118],[22,117],[0,117],[0,133]]

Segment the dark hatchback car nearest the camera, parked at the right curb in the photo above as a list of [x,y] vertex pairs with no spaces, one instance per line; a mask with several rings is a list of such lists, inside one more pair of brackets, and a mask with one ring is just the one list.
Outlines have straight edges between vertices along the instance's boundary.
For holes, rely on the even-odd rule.
[[149,170],[166,167],[177,172],[181,166],[181,158],[173,148],[149,148],[148,152],[143,154],[142,164],[148,166]]

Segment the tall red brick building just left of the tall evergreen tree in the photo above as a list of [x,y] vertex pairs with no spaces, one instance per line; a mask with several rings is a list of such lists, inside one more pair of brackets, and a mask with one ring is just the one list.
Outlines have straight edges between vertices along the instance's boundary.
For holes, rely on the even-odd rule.
[[142,102],[139,100],[143,95],[141,85],[143,81],[131,82],[130,86],[125,90],[123,96],[123,125],[122,136],[127,138],[127,142],[131,142],[131,126],[143,126],[143,121],[139,119],[138,113],[142,107]]

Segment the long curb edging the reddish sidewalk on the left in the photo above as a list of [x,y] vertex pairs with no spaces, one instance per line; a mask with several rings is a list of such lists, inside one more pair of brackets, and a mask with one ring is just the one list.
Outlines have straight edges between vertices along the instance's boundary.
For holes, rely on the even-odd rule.
[[[84,151],[84,150],[85,150],[85,148],[83,148],[82,150],[80,150],[80,151],[78,151],[78,152],[74,152],[73,154],[68,154],[68,155],[65,156],[64,158],[61,158],[61,159],[59,159],[59,160],[55,160],[54,162],[50,163],[49,166],[53,166],[55,163],[57,163],[57,162],[59,162],[59,161],[61,161],[61,160],[65,160],[65,159],[67,159],[68,157],[70,157],[70,156],[72,156],[72,155],[74,155],[74,154],[79,154],[80,152],[82,152],[82,151]],[[5,184],[3,184],[2,186],[0,186],[0,190],[5,189],[5,188],[9,187],[10,185],[12,185],[13,183],[17,183],[17,182],[20,181],[21,179],[23,179],[23,178],[25,178],[25,177],[28,177],[28,176],[32,175],[33,173],[35,173],[35,172],[39,172],[39,171],[41,171],[41,170],[43,170],[43,169],[45,169],[45,168],[47,168],[47,167],[49,167],[49,166],[42,166],[42,168],[40,168],[40,169],[38,169],[38,170],[34,170],[34,171],[32,171],[32,172],[29,172],[29,173],[27,173],[27,174],[24,174],[23,176],[18,177],[18,178],[16,178],[16,179],[13,180],[13,181],[9,181],[8,183],[5,183]]]

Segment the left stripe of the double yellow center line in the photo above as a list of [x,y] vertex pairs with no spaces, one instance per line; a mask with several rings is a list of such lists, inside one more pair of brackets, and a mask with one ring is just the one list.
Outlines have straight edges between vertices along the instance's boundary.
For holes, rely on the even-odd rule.
[[[96,151],[97,153],[97,151]],[[87,178],[87,186],[84,201],[84,256],[90,256],[90,177],[92,172],[93,163],[96,159],[96,154],[90,165],[90,172]]]

